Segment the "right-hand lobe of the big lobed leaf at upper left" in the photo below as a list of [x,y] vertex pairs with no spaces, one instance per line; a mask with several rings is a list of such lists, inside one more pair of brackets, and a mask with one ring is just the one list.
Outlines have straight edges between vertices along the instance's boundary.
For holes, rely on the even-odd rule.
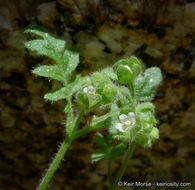
[[66,49],[62,60],[63,61],[60,63],[60,66],[64,70],[65,75],[69,78],[71,73],[79,64],[79,54],[73,49]]

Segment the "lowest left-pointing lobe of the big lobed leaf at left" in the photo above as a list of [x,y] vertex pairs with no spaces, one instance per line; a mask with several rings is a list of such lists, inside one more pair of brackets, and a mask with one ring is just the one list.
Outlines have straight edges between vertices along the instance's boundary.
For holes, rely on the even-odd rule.
[[45,94],[44,98],[51,101],[57,101],[61,99],[66,99],[67,97],[67,90],[66,88],[60,88],[58,90],[51,91]]

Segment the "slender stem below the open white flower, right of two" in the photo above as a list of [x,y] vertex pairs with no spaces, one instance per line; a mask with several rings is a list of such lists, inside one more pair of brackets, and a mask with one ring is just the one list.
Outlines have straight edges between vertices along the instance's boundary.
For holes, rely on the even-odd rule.
[[117,184],[121,180],[121,178],[122,178],[122,176],[123,176],[123,174],[125,172],[125,169],[127,167],[128,161],[129,161],[129,159],[132,156],[132,153],[133,153],[133,150],[135,149],[135,146],[136,146],[136,142],[135,141],[132,141],[131,144],[130,144],[130,146],[129,146],[129,148],[128,148],[128,150],[127,150],[127,153],[125,155],[125,158],[123,160],[123,163],[122,163],[122,165],[121,165],[121,167],[120,167],[120,169],[118,171],[116,180],[115,180],[115,182],[113,184],[113,190],[116,190]]

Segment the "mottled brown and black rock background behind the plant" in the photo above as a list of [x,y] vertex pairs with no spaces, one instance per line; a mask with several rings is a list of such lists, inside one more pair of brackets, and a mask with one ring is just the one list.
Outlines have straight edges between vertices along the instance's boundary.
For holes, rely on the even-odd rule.
[[[144,68],[160,67],[163,83],[153,101],[160,139],[152,148],[137,146],[123,181],[193,185],[193,0],[0,0],[0,190],[36,189],[64,139],[63,102],[43,100],[57,84],[31,74],[52,60],[25,49],[23,31],[29,27],[41,27],[74,47],[80,53],[76,72],[82,75],[131,55]],[[107,160],[90,163],[94,134],[71,145],[48,189],[108,189]]]

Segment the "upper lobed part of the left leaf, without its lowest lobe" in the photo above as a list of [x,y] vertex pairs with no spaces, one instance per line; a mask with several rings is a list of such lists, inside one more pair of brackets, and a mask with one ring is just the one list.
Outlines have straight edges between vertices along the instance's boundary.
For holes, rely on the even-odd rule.
[[[25,33],[33,33],[42,37],[42,39],[25,42],[25,46],[29,50],[36,51],[39,55],[47,56],[53,59],[57,64],[53,67],[37,67],[33,73],[50,77],[61,82],[68,81],[79,63],[79,54],[73,49],[65,50],[65,41],[54,38],[48,33],[32,29],[26,30]],[[44,71],[44,69],[46,70]]]

